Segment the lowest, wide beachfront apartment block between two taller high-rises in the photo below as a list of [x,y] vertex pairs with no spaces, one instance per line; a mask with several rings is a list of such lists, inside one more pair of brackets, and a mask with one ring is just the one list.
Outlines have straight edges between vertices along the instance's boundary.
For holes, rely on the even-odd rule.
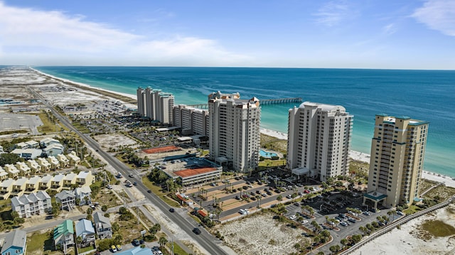
[[173,107],[173,126],[182,134],[208,135],[208,110],[179,104]]

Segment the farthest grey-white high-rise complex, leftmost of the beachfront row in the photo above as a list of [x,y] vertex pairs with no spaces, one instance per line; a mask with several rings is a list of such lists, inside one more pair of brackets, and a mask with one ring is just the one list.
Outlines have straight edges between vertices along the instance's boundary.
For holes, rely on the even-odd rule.
[[173,94],[151,87],[137,88],[137,112],[140,116],[171,125],[173,104]]

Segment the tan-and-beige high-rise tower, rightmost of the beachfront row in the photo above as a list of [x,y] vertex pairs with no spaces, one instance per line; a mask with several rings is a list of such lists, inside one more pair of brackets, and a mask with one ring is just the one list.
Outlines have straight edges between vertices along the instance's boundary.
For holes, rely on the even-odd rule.
[[376,115],[364,203],[394,207],[419,197],[428,125],[408,116]]

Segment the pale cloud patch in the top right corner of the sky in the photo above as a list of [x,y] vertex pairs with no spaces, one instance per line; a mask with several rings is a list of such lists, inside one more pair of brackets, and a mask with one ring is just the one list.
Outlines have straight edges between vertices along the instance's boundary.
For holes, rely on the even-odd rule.
[[446,36],[455,36],[455,1],[453,0],[428,0],[412,13],[412,17]]

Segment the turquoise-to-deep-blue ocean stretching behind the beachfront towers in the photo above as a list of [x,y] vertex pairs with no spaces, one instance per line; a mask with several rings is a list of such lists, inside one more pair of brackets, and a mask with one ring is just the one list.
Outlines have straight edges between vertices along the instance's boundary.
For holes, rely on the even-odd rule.
[[[242,99],[301,97],[339,104],[354,115],[352,149],[370,153],[375,114],[429,121],[424,170],[455,177],[455,71],[242,67],[34,67],[92,87],[136,94],[137,87],[171,92],[176,104],[205,104],[211,92]],[[288,109],[262,106],[261,126],[287,133]]]

